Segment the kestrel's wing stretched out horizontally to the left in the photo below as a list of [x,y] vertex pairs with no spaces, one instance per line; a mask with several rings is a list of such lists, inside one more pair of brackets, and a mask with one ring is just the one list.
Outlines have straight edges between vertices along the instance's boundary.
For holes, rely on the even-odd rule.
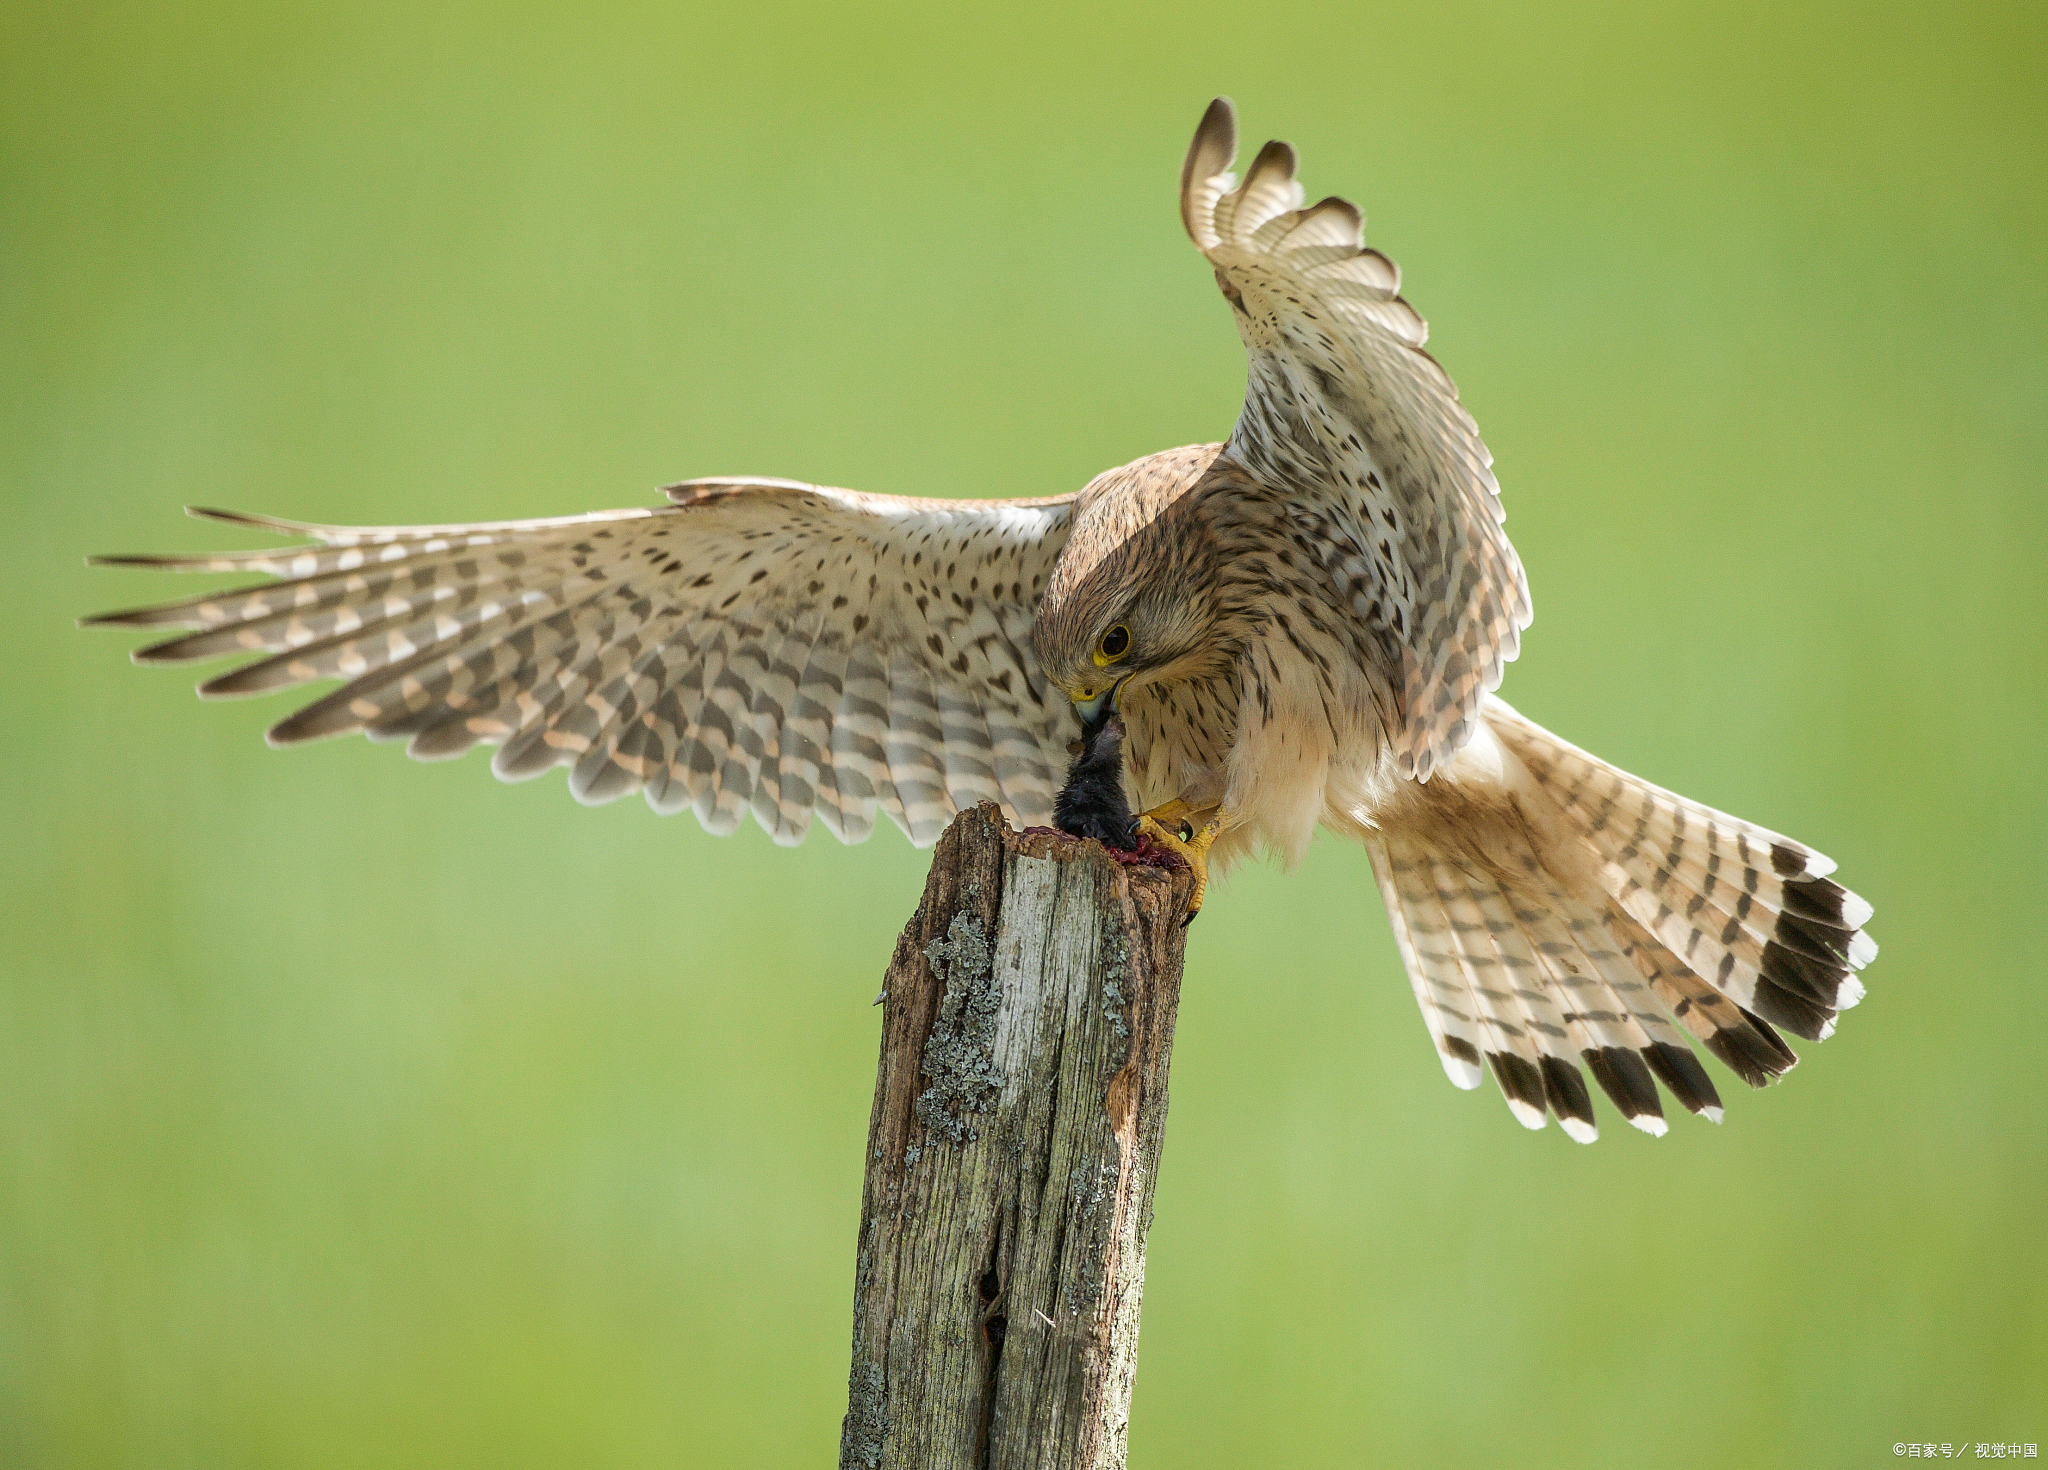
[[776,841],[811,813],[860,841],[887,813],[930,844],[961,807],[1053,811],[1067,700],[1030,655],[1071,498],[905,500],[690,481],[674,506],[471,526],[311,526],[195,512],[313,547],[104,557],[279,581],[88,622],[199,629],[139,663],[264,653],[203,696],[342,686],[272,745],[365,731],[420,760],[496,743],[504,780],[571,766],[600,803],[643,790]]

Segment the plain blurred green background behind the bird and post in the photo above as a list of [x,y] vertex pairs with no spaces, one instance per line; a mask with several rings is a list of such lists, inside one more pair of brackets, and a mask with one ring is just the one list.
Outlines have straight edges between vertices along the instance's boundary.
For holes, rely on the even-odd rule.
[[1724,1128],[1579,1149],[1444,1083],[1362,852],[1235,876],[1135,1464],[2048,1439],[2044,12],[1421,10],[8,8],[0,1464],[834,1462],[924,856],[266,751],[72,629],[190,583],[80,557],[1221,438],[1214,92],[1407,266],[1505,694],[1835,854],[1884,956]]

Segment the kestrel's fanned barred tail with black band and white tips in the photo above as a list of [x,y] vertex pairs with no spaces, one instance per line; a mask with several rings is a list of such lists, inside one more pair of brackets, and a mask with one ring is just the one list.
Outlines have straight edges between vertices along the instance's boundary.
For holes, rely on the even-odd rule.
[[[1630,1124],[1659,1083],[1720,1122],[1688,1038],[1753,1087],[1864,997],[1870,905],[1819,852],[1559,741],[1489,698],[1485,729],[1366,827],[1417,1001],[1452,1081],[1479,1061],[1526,1126],[1595,1136],[1583,1063]],[[1460,1009],[1458,1001],[1468,1009]]]

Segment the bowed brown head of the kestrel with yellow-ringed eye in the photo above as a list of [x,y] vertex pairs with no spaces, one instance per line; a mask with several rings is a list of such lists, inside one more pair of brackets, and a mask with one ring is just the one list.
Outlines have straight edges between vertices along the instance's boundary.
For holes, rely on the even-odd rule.
[[[1153,461],[1174,455],[1190,450]],[[1198,479],[1212,455],[1204,446],[1178,469]],[[1038,663],[1083,725],[1128,692],[1208,672],[1219,657],[1212,538],[1180,495],[1147,493],[1147,481],[1165,477],[1135,475],[1141,467],[1159,469],[1139,461],[1081,491],[1032,624]]]

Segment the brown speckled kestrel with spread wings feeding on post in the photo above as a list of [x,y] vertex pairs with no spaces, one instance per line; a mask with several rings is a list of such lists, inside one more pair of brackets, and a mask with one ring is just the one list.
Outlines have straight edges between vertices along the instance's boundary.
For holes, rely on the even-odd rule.
[[[1249,358],[1223,444],[1034,500],[696,479],[659,508],[459,526],[197,512],[311,545],[106,557],[272,581],[92,622],[190,629],[141,663],[260,657],[205,696],[340,688],[272,745],[362,731],[504,780],[569,766],[780,844],[877,815],[930,844],[963,807],[1053,815],[1069,741],[1116,715],[1130,811],[1198,876],[1317,825],[1370,854],[1444,1071],[1595,1136],[1581,1063],[1628,1122],[1657,1083],[1712,1120],[1688,1046],[1743,1081],[1862,999],[1870,905],[1833,862],[1651,786],[1491,690],[1530,620],[1493,457],[1401,272],[1294,149],[1231,172],[1210,104],[1180,215]],[[1112,743],[1100,747],[1114,760]],[[1100,772],[1096,772],[1100,776]]]

